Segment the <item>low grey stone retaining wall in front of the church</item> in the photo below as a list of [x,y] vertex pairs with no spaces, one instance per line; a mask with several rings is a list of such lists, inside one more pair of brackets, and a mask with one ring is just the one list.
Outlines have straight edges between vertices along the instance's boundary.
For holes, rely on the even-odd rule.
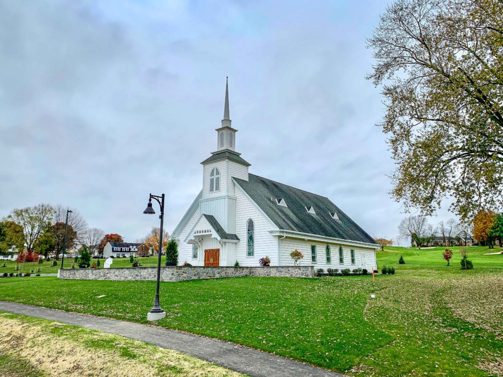
[[[59,269],[61,279],[79,280],[155,280],[157,267],[125,268],[75,268]],[[275,276],[275,277],[313,277],[312,266],[279,267],[161,267],[161,281],[183,281],[216,277],[236,276]]]

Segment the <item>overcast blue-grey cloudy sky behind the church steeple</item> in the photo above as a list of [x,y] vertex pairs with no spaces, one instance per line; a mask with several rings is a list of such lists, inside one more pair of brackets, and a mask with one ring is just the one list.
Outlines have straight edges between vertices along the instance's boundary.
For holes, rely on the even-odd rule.
[[148,194],[165,193],[171,233],[216,149],[228,75],[251,173],[396,237],[382,98],[364,78],[386,3],[0,0],[0,217],[62,204],[133,242],[158,225]]

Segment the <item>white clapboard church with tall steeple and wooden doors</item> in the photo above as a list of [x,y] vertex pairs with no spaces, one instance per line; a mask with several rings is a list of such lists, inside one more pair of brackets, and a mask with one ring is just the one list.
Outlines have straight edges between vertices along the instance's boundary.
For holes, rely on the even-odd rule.
[[203,165],[203,188],[172,234],[179,264],[376,268],[375,241],[328,198],[251,174],[236,151],[225,88],[224,116],[216,129],[217,148]]

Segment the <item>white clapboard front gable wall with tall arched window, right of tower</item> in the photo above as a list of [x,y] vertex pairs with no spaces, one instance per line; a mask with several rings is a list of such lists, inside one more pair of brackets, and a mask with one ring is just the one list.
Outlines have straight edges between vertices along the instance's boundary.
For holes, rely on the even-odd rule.
[[[239,242],[236,245],[236,260],[241,266],[259,266],[259,259],[264,256],[271,258],[271,265],[278,265],[278,239],[271,236],[270,221],[256,208],[255,204],[246,198],[239,187],[235,189],[236,196],[236,235]],[[246,223],[252,219],[255,225],[255,255],[246,256]]]

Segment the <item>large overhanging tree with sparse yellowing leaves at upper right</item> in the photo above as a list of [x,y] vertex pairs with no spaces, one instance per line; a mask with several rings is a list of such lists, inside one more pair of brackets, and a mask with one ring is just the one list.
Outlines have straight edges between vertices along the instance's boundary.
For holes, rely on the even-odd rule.
[[395,0],[368,46],[397,169],[392,197],[471,220],[503,206],[503,2]]

